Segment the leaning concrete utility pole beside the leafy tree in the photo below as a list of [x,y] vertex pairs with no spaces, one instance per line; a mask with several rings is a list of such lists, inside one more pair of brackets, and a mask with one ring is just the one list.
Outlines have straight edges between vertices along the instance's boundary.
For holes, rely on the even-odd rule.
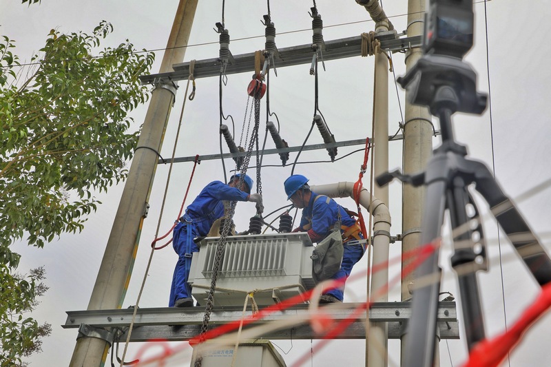
[[[180,0],[160,72],[171,72],[172,65],[183,62],[197,3]],[[88,310],[121,308],[123,304],[175,96],[174,83],[155,85]],[[81,325],[70,366],[103,366],[110,342],[109,331]]]

